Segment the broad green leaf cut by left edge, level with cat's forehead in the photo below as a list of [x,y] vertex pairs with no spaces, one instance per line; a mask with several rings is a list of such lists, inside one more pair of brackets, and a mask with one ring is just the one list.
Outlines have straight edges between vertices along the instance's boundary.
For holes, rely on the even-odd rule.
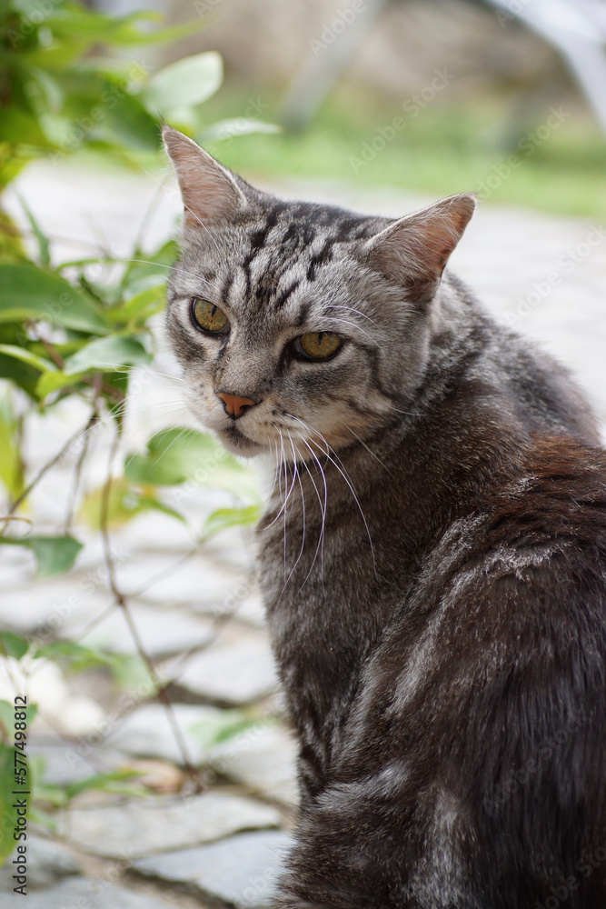
[[104,335],[108,325],[75,287],[35,265],[0,265],[0,323],[45,319],[54,325]]

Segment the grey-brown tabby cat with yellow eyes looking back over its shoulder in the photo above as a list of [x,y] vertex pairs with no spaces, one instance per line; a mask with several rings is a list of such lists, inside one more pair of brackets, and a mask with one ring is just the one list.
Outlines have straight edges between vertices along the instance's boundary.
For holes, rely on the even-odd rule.
[[444,270],[474,197],[369,217],[164,143],[189,404],[275,471],[301,810],[273,905],[604,909],[606,454],[567,371]]

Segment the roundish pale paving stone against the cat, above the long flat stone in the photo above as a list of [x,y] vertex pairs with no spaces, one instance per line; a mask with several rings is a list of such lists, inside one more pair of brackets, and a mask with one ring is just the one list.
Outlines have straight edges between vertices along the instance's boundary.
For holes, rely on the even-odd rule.
[[299,801],[296,757],[293,736],[277,723],[260,721],[214,748],[209,763],[254,793],[293,807]]

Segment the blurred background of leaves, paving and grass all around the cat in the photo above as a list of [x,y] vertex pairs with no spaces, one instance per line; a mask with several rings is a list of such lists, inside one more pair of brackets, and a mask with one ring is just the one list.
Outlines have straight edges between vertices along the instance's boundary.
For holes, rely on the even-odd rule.
[[278,195],[399,217],[476,192],[452,269],[606,425],[602,0],[5,0],[3,906],[15,869],[29,909],[266,906],[290,843],[263,476],[183,405],[163,122]]

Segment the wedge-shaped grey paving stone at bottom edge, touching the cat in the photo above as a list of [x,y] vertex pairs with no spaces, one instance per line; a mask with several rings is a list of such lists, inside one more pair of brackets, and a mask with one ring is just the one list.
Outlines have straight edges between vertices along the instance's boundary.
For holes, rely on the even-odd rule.
[[134,870],[189,884],[236,909],[268,909],[293,837],[283,831],[239,834],[208,846],[155,855]]

